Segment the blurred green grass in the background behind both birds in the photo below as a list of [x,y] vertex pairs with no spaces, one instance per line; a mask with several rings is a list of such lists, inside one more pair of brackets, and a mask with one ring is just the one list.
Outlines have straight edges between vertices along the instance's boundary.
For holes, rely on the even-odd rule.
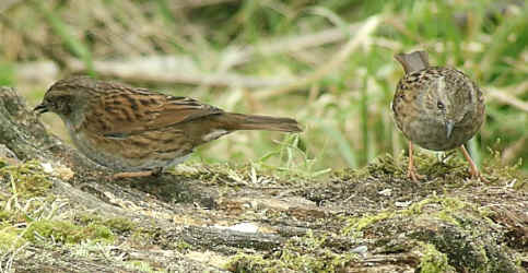
[[[96,74],[94,60],[150,55],[188,56],[203,72],[300,79],[332,59],[347,38],[278,54],[257,52],[233,66],[225,64],[224,52],[335,27],[353,37],[356,33],[348,33],[349,24],[378,15],[383,22],[375,34],[344,62],[284,94],[260,99],[255,90],[236,85],[133,83],[226,110],[294,117],[305,124],[298,138],[237,132],[200,147],[195,159],[257,162],[290,170],[297,166],[308,175],[324,174],[328,168],[360,167],[387,153],[397,156],[406,149],[389,110],[403,73],[392,59],[396,52],[423,48],[432,63],[464,70],[484,93],[497,90],[526,104],[527,14],[524,1],[491,0],[28,1],[1,15],[0,83],[19,86],[35,104],[46,86],[71,71],[59,66],[57,79],[26,83],[13,69],[20,63],[51,59],[68,64],[69,59],[79,59],[84,73]],[[24,38],[28,35],[32,43]],[[45,119],[52,124],[50,130],[63,134],[55,117]],[[515,104],[486,96],[486,122],[469,145],[473,156],[485,161],[489,149],[502,151],[504,163],[523,158],[520,168],[528,171],[527,123],[528,114]]]

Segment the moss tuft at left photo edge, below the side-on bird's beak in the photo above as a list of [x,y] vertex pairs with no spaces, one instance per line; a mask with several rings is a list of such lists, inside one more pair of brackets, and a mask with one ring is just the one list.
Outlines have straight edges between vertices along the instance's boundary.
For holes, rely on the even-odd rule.
[[52,186],[37,161],[4,166],[0,168],[0,176],[8,176],[12,193],[23,198],[42,197]]

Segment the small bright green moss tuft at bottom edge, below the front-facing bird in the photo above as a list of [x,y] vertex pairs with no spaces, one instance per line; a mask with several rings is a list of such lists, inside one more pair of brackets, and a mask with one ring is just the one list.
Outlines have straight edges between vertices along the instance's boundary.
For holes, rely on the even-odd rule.
[[447,256],[438,251],[434,245],[420,244],[420,252],[423,254],[420,259],[420,269],[422,273],[445,273],[456,272],[449,265]]

